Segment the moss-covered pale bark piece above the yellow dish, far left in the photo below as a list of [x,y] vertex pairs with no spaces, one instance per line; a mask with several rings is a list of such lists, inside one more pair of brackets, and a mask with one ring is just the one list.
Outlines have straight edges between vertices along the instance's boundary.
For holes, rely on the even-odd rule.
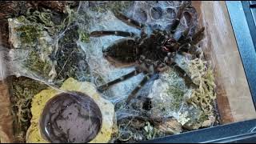
[[32,22],[25,16],[17,18],[20,26],[15,28],[21,49],[27,51],[23,64],[26,69],[42,78],[49,78],[52,62],[48,57],[52,52],[52,39],[43,29],[42,23]]

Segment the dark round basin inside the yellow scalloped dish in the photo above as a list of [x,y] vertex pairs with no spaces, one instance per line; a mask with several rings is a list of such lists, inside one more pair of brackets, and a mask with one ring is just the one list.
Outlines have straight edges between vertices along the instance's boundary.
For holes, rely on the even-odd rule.
[[102,114],[88,95],[62,93],[46,102],[39,126],[49,142],[90,142],[101,130]]

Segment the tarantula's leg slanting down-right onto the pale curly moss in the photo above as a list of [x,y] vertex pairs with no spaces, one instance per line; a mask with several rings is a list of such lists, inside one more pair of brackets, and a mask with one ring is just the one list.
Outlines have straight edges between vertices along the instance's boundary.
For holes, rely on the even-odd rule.
[[198,86],[194,84],[190,76],[186,74],[186,71],[183,70],[180,66],[178,66],[176,62],[172,62],[170,66],[174,68],[174,70],[178,73],[180,77],[184,78],[186,86],[189,86],[189,87],[192,86],[192,88],[198,88]]

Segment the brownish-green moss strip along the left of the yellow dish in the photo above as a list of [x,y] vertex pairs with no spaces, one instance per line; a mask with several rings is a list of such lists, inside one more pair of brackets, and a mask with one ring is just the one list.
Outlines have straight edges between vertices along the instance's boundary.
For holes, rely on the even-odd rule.
[[31,99],[48,86],[30,78],[11,78],[12,111],[14,114],[14,134],[16,142],[26,142],[26,130],[30,126]]

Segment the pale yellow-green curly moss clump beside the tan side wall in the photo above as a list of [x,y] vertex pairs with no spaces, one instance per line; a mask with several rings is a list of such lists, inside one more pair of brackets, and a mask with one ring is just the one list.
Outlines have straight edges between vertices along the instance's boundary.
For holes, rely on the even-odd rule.
[[191,78],[199,86],[197,90],[193,90],[188,102],[200,106],[205,114],[213,115],[213,101],[216,98],[213,71],[199,58],[190,61],[188,66]]

